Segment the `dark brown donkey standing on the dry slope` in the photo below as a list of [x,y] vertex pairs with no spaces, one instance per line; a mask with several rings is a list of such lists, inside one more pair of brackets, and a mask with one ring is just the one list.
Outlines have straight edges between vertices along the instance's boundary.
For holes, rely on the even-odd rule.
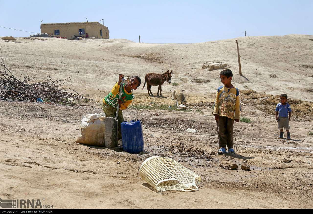
[[171,84],[171,77],[173,70],[171,72],[169,72],[169,70],[167,70],[167,72],[163,73],[163,74],[154,74],[154,73],[149,73],[146,74],[145,76],[145,84],[142,87],[142,90],[145,88],[146,82],[147,82],[147,89],[148,89],[148,94],[153,96],[152,92],[151,92],[151,86],[152,85],[158,85],[159,88],[157,89],[157,95],[159,96],[159,91],[160,91],[160,95],[162,97],[162,84],[167,81],[169,84]]

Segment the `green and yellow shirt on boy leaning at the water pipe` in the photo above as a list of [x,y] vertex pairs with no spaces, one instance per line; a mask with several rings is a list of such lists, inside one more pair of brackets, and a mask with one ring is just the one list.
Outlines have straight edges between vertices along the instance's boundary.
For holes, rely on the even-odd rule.
[[[123,103],[120,106],[120,110],[126,109],[127,106],[131,104],[131,101],[133,101],[134,99],[133,93],[132,92],[128,93],[125,90],[125,85],[126,84],[123,83],[123,89],[122,89],[122,95],[121,95],[121,100],[123,101]],[[116,109],[119,95],[120,95],[120,85],[116,83],[113,89],[111,90],[111,92],[103,99],[103,104],[109,105]]]

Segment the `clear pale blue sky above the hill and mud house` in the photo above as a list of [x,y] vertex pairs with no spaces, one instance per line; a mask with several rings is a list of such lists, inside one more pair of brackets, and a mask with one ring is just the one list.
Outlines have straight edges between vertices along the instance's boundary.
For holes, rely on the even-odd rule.
[[[110,38],[197,43],[244,36],[313,35],[312,0],[3,1],[0,26],[40,32],[43,23],[104,19]],[[0,28],[0,36],[32,33]]]

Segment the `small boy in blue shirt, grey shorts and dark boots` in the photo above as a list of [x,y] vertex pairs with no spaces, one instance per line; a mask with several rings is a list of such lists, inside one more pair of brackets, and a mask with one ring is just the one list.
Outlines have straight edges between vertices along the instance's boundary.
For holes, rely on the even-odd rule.
[[[276,105],[276,121],[278,122],[278,130],[280,130],[280,137],[278,139],[284,139],[284,128],[287,131],[287,139],[290,140],[290,126],[289,121],[291,118],[291,107],[287,103],[287,94],[280,95],[280,103]],[[289,115],[289,117],[288,117]]]

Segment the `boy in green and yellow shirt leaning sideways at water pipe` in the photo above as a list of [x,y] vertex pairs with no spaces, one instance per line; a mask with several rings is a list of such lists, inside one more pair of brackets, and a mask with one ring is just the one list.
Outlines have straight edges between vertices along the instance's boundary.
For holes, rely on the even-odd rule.
[[[103,111],[105,113],[105,117],[113,117],[115,118],[116,115],[116,108],[117,104],[120,104],[120,108],[117,115],[118,120],[118,139],[122,139],[121,133],[121,123],[124,122],[123,112],[122,110],[126,109],[131,101],[134,99],[134,95],[132,93],[132,89],[136,90],[140,84],[141,79],[138,76],[131,76],[129,81],[125,84],[122,83],[124,75],[119,75],[119,82],[116,83],[111,90],[111,92],[103,99]],[[122,94],[121,99],[119,98],[120,95],[120,85],[122,84]]]

